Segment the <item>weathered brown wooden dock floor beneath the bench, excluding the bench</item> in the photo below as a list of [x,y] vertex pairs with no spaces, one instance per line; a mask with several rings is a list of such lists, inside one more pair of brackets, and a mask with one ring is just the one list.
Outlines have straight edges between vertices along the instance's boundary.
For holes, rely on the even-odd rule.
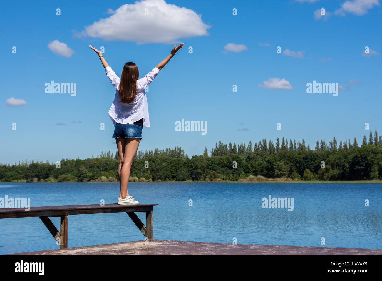
[[[146,243],[145,243],[146,242]],[[147,243],[148,242],[148,243]],[[191,242],[149,239],[12,255],[382,255],[382,249],[355,249]]]

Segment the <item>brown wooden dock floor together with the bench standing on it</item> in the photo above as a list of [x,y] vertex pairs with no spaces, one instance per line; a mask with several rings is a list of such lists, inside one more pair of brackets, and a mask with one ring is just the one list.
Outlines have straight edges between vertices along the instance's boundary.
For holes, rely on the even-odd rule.
[[[0,208],[0,219],[38,216],[61,249],[12,255],[382,255],[382,249],[305,247],[284,245],[232,244],[152,239],[152,207],[138,205],[69,205],[24,208]],[[68,216],[126,212],[145,240],[68,248]],[[135,212],[146,213],[146,226]],[[49,217],[60,217],[60,231]]]

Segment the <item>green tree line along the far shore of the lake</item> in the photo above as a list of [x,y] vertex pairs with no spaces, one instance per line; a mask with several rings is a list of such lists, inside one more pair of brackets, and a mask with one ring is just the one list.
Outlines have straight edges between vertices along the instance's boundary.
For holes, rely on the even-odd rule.
[[[97,158],[62,159],[59,163],[26,160],[17,165],[1,164],[0,180],[11,182],[118,181],[118,152],[101,152]],[[370,132],[361,145],[356,138],[326,143],[317,141],[315,149],[304,139],[262,139],[258,143],[215,143],[208,153],[190,159],[180,146],[154,151],[138,151],[131,177],[141,181],[237,181],[250,175],[269,179],[295,180],[379,180],[382,179],[382,139]]]

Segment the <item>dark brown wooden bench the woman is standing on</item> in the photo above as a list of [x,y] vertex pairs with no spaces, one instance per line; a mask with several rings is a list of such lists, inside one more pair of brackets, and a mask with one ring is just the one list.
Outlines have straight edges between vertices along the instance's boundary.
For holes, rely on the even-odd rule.
[[[0,219],[39,217],[45,224],[54,239],[59,242],[61,249],[68,248],[68,215],[71,214],[102,214],[126,212],[142,234],[152,239],[152,206],[159,204],[118,205],[100,204],[95,205],[68,205],[68,206],[44,206],[25,208],[0,208]],[[135,212],[146,212],[146,226],[138,218]],[[61,218],[60,232],[54,226],[49,217]]]

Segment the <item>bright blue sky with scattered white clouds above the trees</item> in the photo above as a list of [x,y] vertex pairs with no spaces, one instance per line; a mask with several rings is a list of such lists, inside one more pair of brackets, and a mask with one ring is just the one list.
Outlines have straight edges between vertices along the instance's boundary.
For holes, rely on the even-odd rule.
[[[117,75],[132,61],[143,77],[185,43],[149,86],[151,128],[143,128],[142,151],[181,146],[191,157],[219,140],[275,143],[283,136],[304,138],[311,148],[333,136],[361,143],[370,133],[366,122],[382,134],[377,0],[39,2],[5,2],[0,10],[1,163],[117,151],[107,114],[115,88],[89,44],[104,46]],[[136,10],[123,12],[124,4]],[[55,40],[67,48],[53,52]],[[76,96],[45,93],[51,80],[76,83]],[[338,83],[338,96],[306,93],[313,80]],[[181,119],[206,121],[207,134],[176,132]]]

